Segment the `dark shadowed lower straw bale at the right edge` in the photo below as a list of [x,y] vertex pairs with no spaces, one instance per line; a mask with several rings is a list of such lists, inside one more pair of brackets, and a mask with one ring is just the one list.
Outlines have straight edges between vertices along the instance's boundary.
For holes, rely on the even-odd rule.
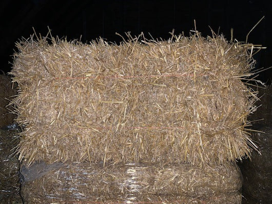
[[243,159],[240,169],[244,176],[243,196],[251,203],[272,203],[272,127],[262,127],[252,134],[262,155],[252,152],[251,159]]

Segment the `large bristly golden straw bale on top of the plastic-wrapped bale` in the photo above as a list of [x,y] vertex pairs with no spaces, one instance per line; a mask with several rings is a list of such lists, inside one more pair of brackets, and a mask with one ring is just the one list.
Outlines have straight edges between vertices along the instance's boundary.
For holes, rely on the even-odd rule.
[[17,43],[20,160],[207,164],[249,154],[256,98],[241,78],[252,45],[172,38]]

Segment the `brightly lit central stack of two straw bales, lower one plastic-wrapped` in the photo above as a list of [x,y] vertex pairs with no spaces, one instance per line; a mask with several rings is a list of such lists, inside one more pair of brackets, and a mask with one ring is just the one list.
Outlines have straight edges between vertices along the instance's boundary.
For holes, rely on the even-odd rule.
[[255,147],[245,127],[257,97],[242,81],[254,46],[128,38],[16,44],[24,200],[241,203],[231,162]]

